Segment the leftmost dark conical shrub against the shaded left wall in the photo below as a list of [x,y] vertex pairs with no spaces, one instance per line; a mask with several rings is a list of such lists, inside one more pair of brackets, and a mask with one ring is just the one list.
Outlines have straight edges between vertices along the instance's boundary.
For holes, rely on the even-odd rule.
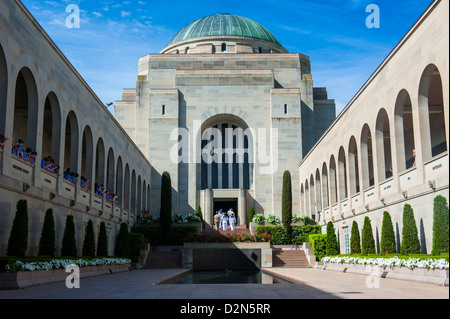
[[16,204],[11,233],[8,240],[7,256],[25,256],[28,248],[28,202],[19,200]]

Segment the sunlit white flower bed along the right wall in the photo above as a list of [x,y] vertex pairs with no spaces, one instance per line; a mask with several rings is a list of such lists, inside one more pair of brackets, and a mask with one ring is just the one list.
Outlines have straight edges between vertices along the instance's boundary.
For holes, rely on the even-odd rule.
[[360,265],[377,265],[380,267],[407,267],[413,268],[430,268],[430,269],[448,269],[448,261],[445,259],[427,259],[420,258],[400,259],[392,258],[368,258],[368,257],[323,257],[324,263],[335,264],[360,264]]

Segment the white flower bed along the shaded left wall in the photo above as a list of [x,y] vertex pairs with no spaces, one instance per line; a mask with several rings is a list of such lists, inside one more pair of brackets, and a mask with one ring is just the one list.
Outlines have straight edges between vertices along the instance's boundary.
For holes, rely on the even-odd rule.
[[6,266],[7,272],[18,271],[35,271],[35,270],[51,270],[66,268],[69,265],[77,265],[79,267],[104,266],[104,265],[123,265],[131,263],[127,258],[96,258],[96,259],[53,259],[52,261],[39,261],[24,263],[16,261]]

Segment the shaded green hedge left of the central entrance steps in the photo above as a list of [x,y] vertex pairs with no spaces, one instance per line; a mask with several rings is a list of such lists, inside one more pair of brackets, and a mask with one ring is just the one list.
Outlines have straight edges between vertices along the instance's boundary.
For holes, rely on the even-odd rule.
[[164,239],[160,225],[136,225],[131,229],[131,232],[141,233],[144,235],[145,242],[152,243],[152,245],[183,245],[188,234],[197,232],[197,226],[189,224],[172,225]]

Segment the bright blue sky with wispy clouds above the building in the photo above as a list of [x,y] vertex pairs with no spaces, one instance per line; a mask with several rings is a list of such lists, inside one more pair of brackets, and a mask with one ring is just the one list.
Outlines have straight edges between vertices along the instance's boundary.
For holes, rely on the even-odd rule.
[[[105,104],[136,87],[140,57],[159,53],[194,20],[231,13],[265,26],[289,52],[308,55],[314,86],[328,88],[339,113],[431,0],[22,2]],[[66,27],[69,4],[80,8],[78,29]],[[380,8],[379,29],[366,27],[369,4]]]

